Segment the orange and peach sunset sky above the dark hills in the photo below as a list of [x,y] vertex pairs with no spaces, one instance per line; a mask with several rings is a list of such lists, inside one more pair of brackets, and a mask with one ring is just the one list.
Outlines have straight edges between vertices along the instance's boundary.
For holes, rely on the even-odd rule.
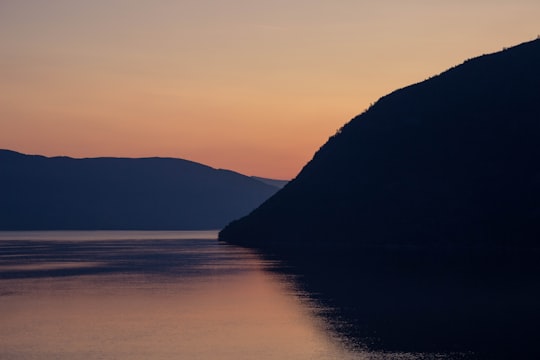
[[291,179],[381,96],[539,19],[538,0],[0,0],[0,148]]

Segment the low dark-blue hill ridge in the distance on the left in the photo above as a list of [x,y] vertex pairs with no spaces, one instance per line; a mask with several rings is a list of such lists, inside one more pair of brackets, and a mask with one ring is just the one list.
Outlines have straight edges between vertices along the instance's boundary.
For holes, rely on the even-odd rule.
[[0,230],[220,229],[277,190],[181,159],[0,150]]

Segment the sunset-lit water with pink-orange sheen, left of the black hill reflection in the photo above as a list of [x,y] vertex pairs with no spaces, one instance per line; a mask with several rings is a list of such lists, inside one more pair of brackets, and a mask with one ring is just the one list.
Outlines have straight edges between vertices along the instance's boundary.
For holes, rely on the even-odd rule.
[[215,235],[61,235],[2,235],[1,359],[358,358],[272,260]]

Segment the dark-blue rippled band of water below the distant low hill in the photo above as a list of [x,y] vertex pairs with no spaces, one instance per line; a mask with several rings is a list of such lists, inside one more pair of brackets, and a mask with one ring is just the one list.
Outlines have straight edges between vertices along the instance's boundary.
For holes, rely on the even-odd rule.
[[[4,240],[0,279],[92,274],[208,276],[245,270],[246,250],[213,239]],[[252,255],[251,255],[252,256]]]

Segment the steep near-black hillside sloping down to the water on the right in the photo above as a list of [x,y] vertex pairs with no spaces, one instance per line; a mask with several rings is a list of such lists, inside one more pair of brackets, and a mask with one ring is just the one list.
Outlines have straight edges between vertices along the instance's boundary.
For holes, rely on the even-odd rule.
[[220,239],[538,247],[540,40],[381,98]]

